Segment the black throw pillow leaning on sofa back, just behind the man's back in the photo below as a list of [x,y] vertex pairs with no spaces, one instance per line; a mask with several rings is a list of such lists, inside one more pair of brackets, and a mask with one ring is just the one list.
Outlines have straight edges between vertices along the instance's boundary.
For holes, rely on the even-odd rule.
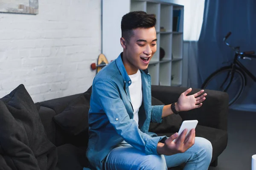
[[82,94],[69,103],[67,108],[53,117],[53,120],[67,133],[78,135],[88,129],[90,102]]

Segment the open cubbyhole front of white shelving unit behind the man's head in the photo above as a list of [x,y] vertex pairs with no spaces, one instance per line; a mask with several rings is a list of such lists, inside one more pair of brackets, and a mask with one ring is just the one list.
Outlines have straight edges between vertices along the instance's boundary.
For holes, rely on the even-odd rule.
[[[180,10],[178,32],[172,29],[173,10]],[[184,7],[158,0],[131,0],[130,11],[145,11],[155,14],[157,24],[157,52],[151,59],[148,71],[152,85],[182,85],[183,67],[183,11]],[[160,30],[164,27],[165,31]],[[160,59],[160,47],[165,56]]]

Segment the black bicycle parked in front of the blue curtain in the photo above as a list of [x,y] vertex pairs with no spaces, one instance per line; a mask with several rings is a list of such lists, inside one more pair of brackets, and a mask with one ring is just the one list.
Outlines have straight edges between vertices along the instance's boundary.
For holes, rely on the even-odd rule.
[[245,74],[247,74],[254,82],[256,77],[239,62],[239,59],[255,58],[254,51],[240,52],[240,47],[233,47],[226,42],[231,32],[223,38],[224,43],[235,51],[233,62],[230,66],[224,66],[213,72],[202,84],[202,89],[210,89],[227,92],[229,95],[229,106],[233,105],[241,96],[244,87],[247,84]]

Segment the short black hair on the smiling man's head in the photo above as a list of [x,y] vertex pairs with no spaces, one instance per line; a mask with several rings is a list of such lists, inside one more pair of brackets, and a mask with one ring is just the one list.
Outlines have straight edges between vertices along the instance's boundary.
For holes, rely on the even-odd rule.
[[122,37],[129,41],[130,38],[134,35],[133,29],[151,28],[154,27],[156,23],[156,18],[144,11],[131,11],[122,17]]

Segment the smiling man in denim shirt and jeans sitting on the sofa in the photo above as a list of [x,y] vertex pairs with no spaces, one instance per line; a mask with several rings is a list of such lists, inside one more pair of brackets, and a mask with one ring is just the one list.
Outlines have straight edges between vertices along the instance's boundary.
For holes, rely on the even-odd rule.
[[[186,130],[167,138],[148,132],[149,123],[178,111],[202,106],[203,90],[171,105],[151,106],[148,63],[157,50],[156,19],[143,11],[121,21],[123,52],[93,80],[87,158],[97,170],[166,170],[185,163],[185,170],[207,170],[212,145]],[[173,142],[173,140],[175,142]]]

